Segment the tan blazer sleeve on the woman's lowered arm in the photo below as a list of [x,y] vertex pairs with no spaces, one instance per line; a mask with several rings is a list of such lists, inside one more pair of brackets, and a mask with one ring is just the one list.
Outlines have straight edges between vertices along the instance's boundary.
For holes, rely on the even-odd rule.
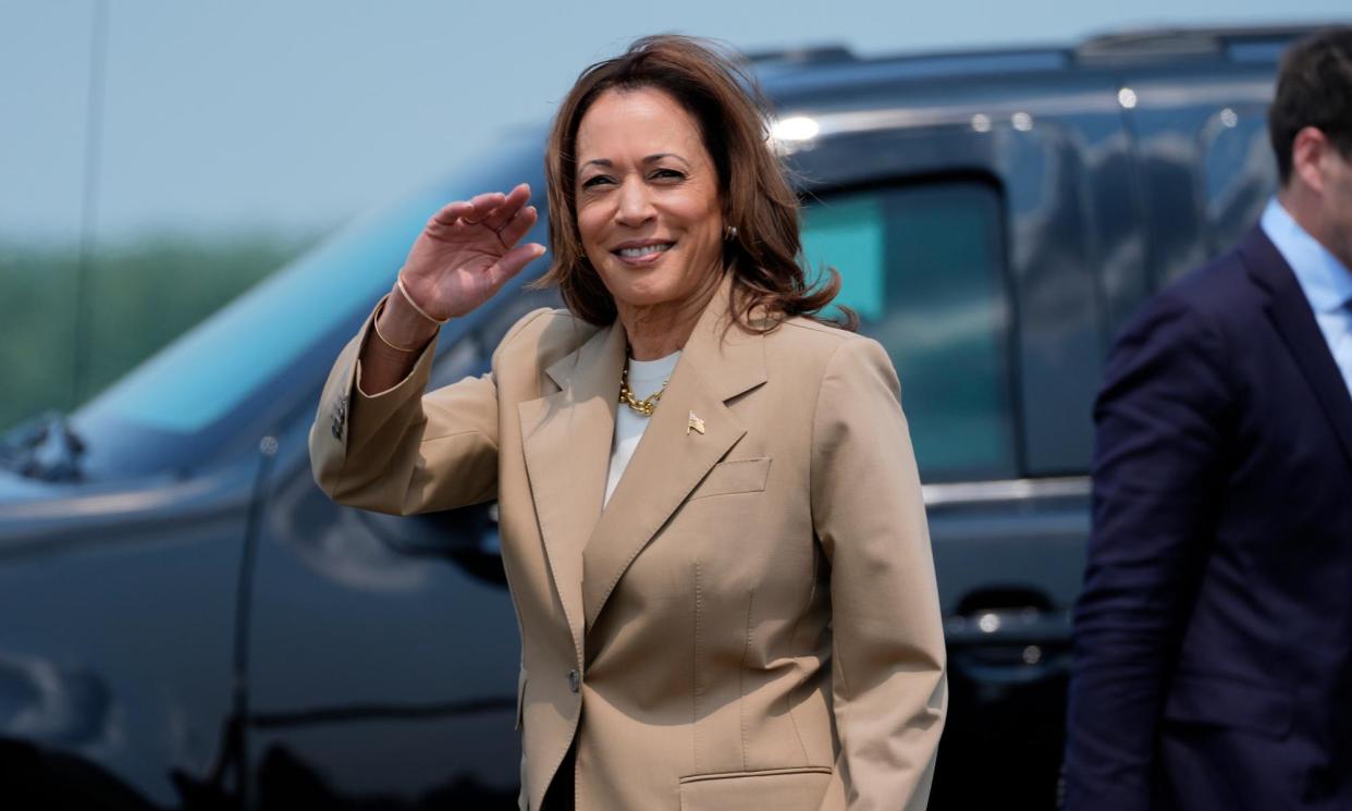
[[827,364],[810,477],[840,739],[822,811],[922,810],[948,704],[944,630],[900,385],[876,341],[844,341]]

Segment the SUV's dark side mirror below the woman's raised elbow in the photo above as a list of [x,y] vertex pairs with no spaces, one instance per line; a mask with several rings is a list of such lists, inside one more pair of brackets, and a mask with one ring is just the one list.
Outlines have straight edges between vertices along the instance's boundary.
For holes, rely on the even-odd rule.
[[365,510],[358,515],[372,533],[402,554],[448,558],[479,580],[507,585],[496,501],[407,518]]

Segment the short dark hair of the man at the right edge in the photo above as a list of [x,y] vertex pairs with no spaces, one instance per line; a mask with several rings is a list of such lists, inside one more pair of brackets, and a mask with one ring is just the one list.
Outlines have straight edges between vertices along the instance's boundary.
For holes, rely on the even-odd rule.
[[1352,159],[1352,27],[1318,31],[1282,57],[1276,99],[1268,111],[1282,185],[1291,178],[1291,145],[1305,127],[1317,127]]

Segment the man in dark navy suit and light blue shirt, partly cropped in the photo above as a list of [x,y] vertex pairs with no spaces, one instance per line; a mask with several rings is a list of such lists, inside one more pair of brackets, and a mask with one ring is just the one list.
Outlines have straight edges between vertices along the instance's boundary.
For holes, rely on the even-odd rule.
[[1065,806],[1352,808],[1352,28],[1287,53],[1282,187],[1118,338]]

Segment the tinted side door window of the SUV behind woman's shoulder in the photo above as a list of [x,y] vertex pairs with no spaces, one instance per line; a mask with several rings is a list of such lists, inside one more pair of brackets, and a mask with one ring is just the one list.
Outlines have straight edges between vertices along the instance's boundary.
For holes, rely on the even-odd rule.
[[822,197],[803,211],[811,269],[888,351],[926,481],[1015,474],[1000,197],[945,181]]

